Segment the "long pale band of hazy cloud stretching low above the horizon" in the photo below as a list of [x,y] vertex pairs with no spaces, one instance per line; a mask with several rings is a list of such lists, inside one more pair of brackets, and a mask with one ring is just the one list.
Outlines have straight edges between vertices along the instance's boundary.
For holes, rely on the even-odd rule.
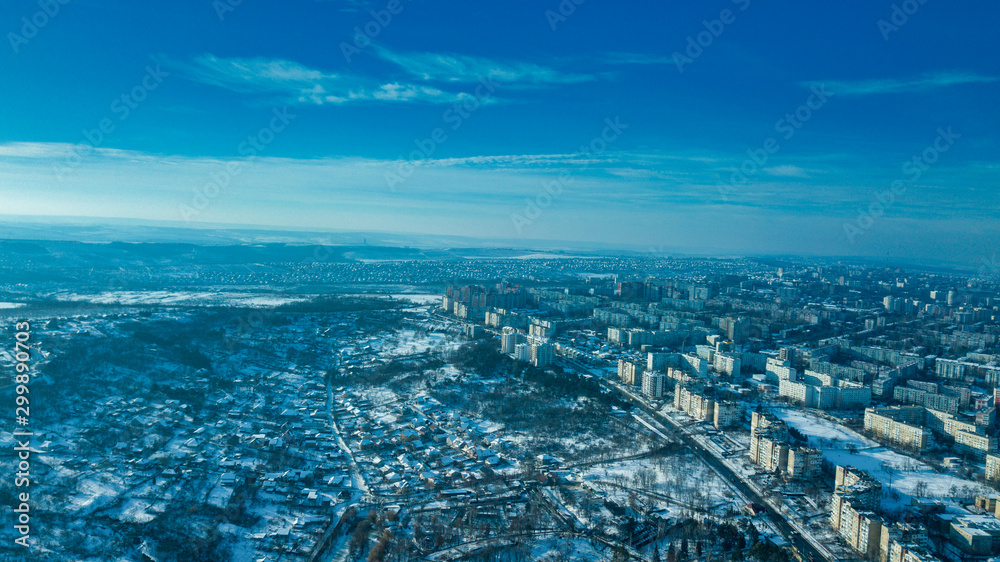
[[[74,149],[93,152],[74,168],[72,181],[60,181],[54,168]],[[699,236],[716,235],[718,225],[725,224],[731,230],[726,236],[731,237],[742,235],[734,221],[744,216],[768,217],[767,224],[780,222],[778,218],[803,221],[809,227],[826,220],[831,232],[842,234],[843,217],[854,216],[859,194],[864,197],[872,178],[878,180],[877,173],[859,174],[856,169],[827,173],[823,169],[827,181],[804,180],[812,184],[811,189],[802,189],[799,182],[751,182],[739,187],[734,202],[724,203],[718,197],[720,179],[711,162],[684,152],[658,155],[623,150],[599,157],[553,153],[430,160],[407,180],[404,189],[395,192],[386,184],[386,174],[399,169],[395,160],[274,156],[235,160],[245,164],[244,171],[225,187],[215,184],[217,194],[203,211],[198,208],[192,220],[415,232],[447,227],[509,236],[511,213],[523,210],[526,199],[536,197],[544,186],[568,172],[572,181],[558,204],[537,223],[538,232],[565,233],[573,227],[579,228],[578,233],[572,231],[575,235],[604,236],[594,234],[594,225],[606,224],[618,229],[608,232],[619,233],[620,239],[634,240],[657,225],[680,221],[681,233],[697,227],[703,233]],[[4,188],[0,189],[0,208],[15,215],[187,220],[182,206],[192,205],[198,194],[206,192],[206,185],[217,182],[227,164],[221,157],[87,145],[0,144],[0,187]],[[797,164],[810,173],[816,169]],[[775,166],[771,171],[788,173],[795,168]],[[964,175],[956,171],[963,169],[945,170],[942,178],[957,179],[921,186],[923,197],[900,200],[894,209],[925,225],[953,220],[955,209],[962,214],[961,225],[993,224],[995,212],[983,205],[982,191],[962,191],[954,185],[995,185],[995,171],[979,167],[964,170]],[[889,185],[896,175],[893,169],[882,183]],[[275,185],[285,188],[275,189]],[[938,194],[952,198],[948,216],[938,204]],[[634,232],[621,234],[622,225]],[[779,238],[789,231],[787,223],[783,225],[775,232]]]

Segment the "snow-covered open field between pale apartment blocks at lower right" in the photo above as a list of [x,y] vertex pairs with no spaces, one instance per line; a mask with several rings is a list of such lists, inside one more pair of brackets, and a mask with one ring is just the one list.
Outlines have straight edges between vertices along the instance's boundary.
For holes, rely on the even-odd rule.
[[[921,497],[949,497],[953,491],[968,496],[970,489],[974,493],[992,493],[989,488],[972,480],[941,474],[918,459],[882,447],[864,435],[829,420],[800,410],[775,409],[773,412],[790,427],[805,434],[810,446],[823,451],[823,458],[834,465],[855,466],[881,481],[882,505],[889,509],[909,503],[921,482],[926,489]],[[855,449],[853,452],[849,450],[851,447]],[[892,494],[890,487],[897,494]]]

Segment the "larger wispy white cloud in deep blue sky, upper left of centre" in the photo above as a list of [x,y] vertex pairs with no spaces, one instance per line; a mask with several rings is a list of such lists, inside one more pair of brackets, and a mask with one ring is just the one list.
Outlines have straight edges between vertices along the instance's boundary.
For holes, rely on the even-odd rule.
[[283,59],[223,58],[204,54],[190,62],[166,56],[160,56],[159,60],[189,80],[241,94],[277,99],[280,103],[454,103],[469,96],[421,84],[381,82],[346,73],[324,72]]

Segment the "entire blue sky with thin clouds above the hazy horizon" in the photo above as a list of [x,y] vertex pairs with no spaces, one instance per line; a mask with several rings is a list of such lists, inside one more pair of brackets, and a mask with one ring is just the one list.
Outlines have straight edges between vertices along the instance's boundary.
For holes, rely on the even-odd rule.
[[1000,242],[995,3],[64,1],[0,8],[3,214],[968,263]]

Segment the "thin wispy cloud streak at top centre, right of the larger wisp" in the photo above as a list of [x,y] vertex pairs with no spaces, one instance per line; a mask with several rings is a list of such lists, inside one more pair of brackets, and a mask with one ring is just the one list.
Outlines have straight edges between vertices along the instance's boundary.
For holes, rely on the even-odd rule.
[[592,74],[568,73],[530,62],[441,53],[397,53],[375,46],[379,58],[398,65],[427,82],[475,83],[493,79],[507,87],[579,84],[596,80]]

